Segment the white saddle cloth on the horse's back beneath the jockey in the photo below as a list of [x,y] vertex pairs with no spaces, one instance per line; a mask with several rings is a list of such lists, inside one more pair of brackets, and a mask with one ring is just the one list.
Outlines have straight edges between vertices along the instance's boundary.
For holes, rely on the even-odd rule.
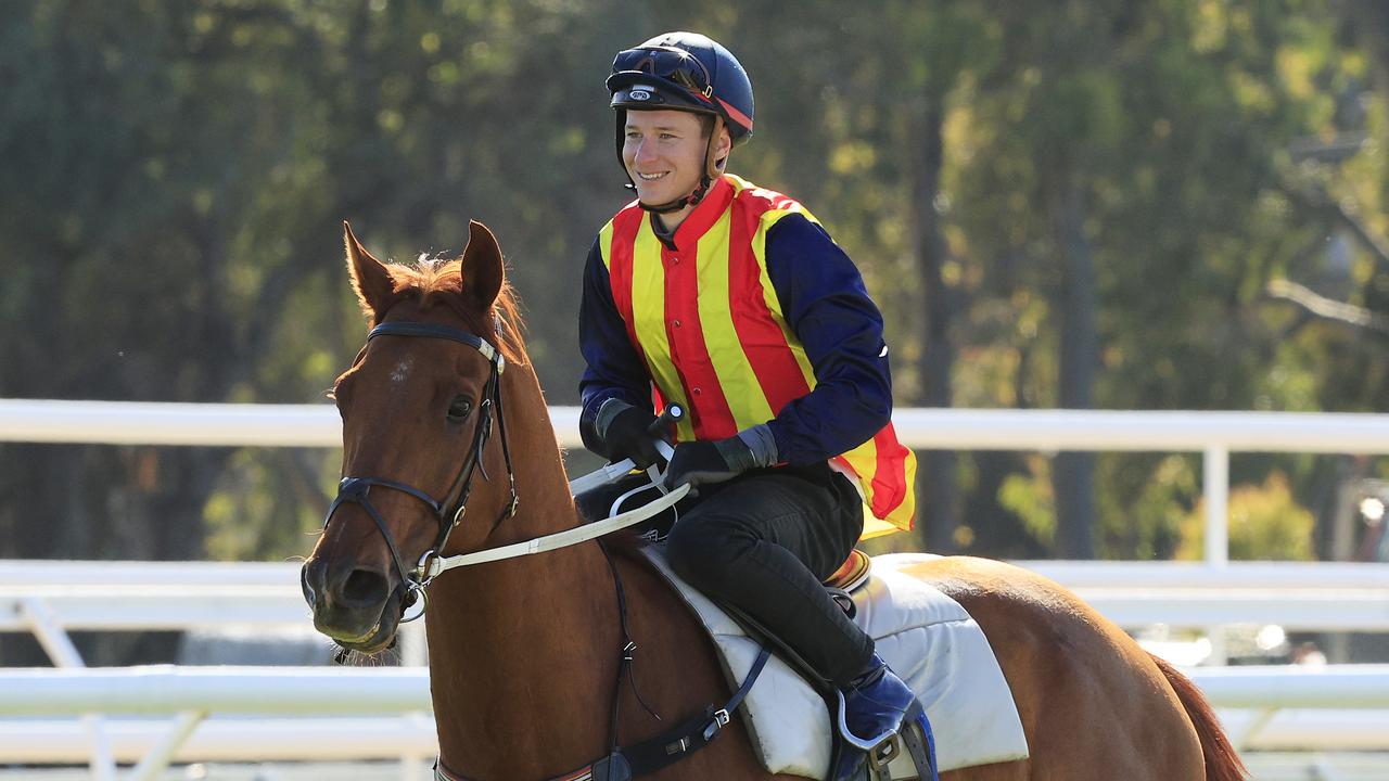
[[[728,613],[681,581],[663,546],[644,549],[714,636],[724,671],[736,688],[757,657],[758,643]],[[936,741],[939,771],[1028,757],[1013,692],[988,638],[964,607],[899,570],[935,559],[895,553],[872,559],[867,582],[854,591],[854,621],[878,653],[917,692]],[[774,653],[743,700],[743,724],[770,773],[824,778],[829,771],[829,710],[810,684]],[[903,752],[893,778],[915,778]]]

